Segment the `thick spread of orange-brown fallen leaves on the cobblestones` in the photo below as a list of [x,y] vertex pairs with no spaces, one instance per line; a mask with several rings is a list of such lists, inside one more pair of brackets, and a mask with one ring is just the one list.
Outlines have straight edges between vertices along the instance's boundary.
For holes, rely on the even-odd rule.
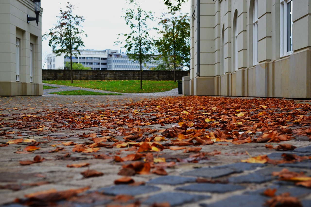
[[[120,104],[118,109],[111,106],[102,106],[103,110],[86,112],[48,111],[41,112],[41,116],[24,116],[23,127],[33,124],[34,119],[45,120],[45,125],[31,127],[38,132],[57,131],[62,128],[88,129],[100,127],[101,131],[94,134],[82,134],[81,138],[88,138],[91,143],[75,144],[74,142],[63,142],[60,145],[72,145],[72,152],[94,153],[96,159],[113,159],[115,162],[128,162],[118,173],[125,177],[116,180],[116,184],[132,183],[128,176],[135,174],[156,173],[167,175],[165,168],[173,167],[176,162],[197,163],[207,156],[220,154],[214,152],[200,152],[203,145],[228,145],[232,143],[240,145],[244,143],[271,143],[294,139],[293,135],[311,136],[310,106],[309,104],[295,103],[286,99],[231,99],[225,97],[174,97],[153,100],[142,100],[128,105]],[[49,125],[49,120],[52,124]],[[165,126],[175,124],[174,127],[156,130],[148,128],[152,125]],[[290,129],[296,126],[296,129]],[[41,127],[41,128],[39,128]],[[299,128],[304,127],[304,128]],[[101,136],[97,136],[100,134]],[[122,140],[116,137],[122,136]],[[15,140],[13,140],[15,141]],[[21,140],[23,141],[23,140]],[[225,143],[224,143],[225,142]],[[11,144],[11,143],[7,143]],[[32,143],[31,149],[38,150],[38,143]],[[56,146],[56,145],[55,145]],[[132,151],[127,156],[96,154],[101,148],[119,148],[122,151]],[[266,145],[269,149],[293,150],[295,146],[281,144],[273,147]],[[187,159],[175,159],[166,162],[159,156],[163,150],[183,150],[183,153],[190,154]],[[53,152],[62,151],[63,147],[57,146]],[[25,149],[24,149],[25,151]],[[52,151],[51,151],[52,152]],[[67,156],[70,156],[68,154]],[[253,163],[296,162],[304,158],[288,158],[285,155],[281,161],[273,161],[267,156],[251,157],[243,160]],[[140,161],[143,160],[143,161]],[[34,160],[21,161],[21,165],[28,165],[45,161],[44,158],[36,156]],[[81,163],[76,166],[85,167],[88,163]],[[153,170],[152,170],[153,169]],[[94,170],[87,170],[81,173],[84,177],[101,176],[103,173]],[[299,175],[304,182],[299,185],[310,187],[310,178]],[[299,179],[300,179],[299,178]],[[282,177],[284,179],[284,177]],[[295,175],[294,178],[298,179]],[[303,181],[303,179],[305,179]],[[271,205],[272,206],[272,205]]]

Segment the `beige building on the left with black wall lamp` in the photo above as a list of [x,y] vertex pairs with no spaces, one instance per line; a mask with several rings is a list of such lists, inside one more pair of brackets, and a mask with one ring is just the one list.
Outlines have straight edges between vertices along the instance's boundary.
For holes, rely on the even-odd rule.
[[0,96],[42,95],[41,16],[32,0],[0,1]]

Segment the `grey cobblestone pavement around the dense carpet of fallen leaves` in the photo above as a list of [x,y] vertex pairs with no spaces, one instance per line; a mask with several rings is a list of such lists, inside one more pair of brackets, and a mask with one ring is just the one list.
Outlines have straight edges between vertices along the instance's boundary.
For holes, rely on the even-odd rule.
[[[61,87],[57,90],[74,90],[74,87]],[[269,197],[263,195],[267,189],[276,189],[276,194],[290,192],[301,200],[303,206],[311,206],[311,189],[295,186],[292,182],[279,181],[272,176],[273,171],[281,171],[288,168],[290,171],[305,172],[311,175],[311,162],[305,160],[298,163],[287,164],[260,164],[242,163],[241,159],[247,159],[246,151],[253,156],[268,154],[269,158],[281,159],[283,152],[268,150],[266,143],[248,143],[243,145],[205,145],[203,152],[220,151],[221,154],[208,156],[197,163],[187,162],[189,154],[180,150],[164,149],[158,155],[164,157],[166,162],[173,161],[173,157],[183,160],[174,167],[166,168],[167,176],[156,174],[137,174],[132,176],[135,182],[145,182],[145,185],[115,185],[119,179],[118,172],[123,164],[130,162],[115,162],[108,159],[122,151],[122,156],[132,154],[125,151],[128,148],[101,147],[97,153],[78,153],[72,151],[72,146],[61,145],[62,142],[73,141],[75,144],[83,144],[96,135],[103,137],[100,131],[107,130],[100,126],[91,125],[88,128],[75,128],[69,126],[69,119],[52,123],[47,119],[39,122],[40,116],[53,116],[56,112],[95,113],[98,110],[122,110],[131,102],[144,100],[145,94],[125,94],[124,96],[55,96],[47,94],[56,90],[44,90],[44,96],[34,97],[0,97],[0,205],[23,206],[14,203],[16,198],[25,199],[24,195],[55,189],[65,191],[68,189],[80,189],[90,187],[88,191],[81,193],[76,199],[64,203],[59,201],[58,206],[105,206],[108,204],[133,203],[139,201],[140,206],[151,206],[154,203],[169,202],[170,206],[208,206],[208,207],[262,207]],[[161,94],[176,95],[176,91],[163,92]],[[151,98],[148,94],[147,98]],[[157,97],[155,97],[157,98]],[[308,102],[308,101],[307,101]],[[134,112],[133,112],[134,113]],[[83,117],[82,117],[83,118]],[[27,120],[33,122],[29,127]],[[22,126],[18,123],[24,123]],[[47,129],[47,124],[63,124],[62,127]],[[142,126],[141,129],[163,130],[174,127],[176,124]],[[300,126],[301,127],[301,126]],[[299,127],[297,127],[299,128]],[[307,127],[308,128],[308,127]],[[3,132],[6,133],[3,133]],[[109,131],[109,130],[108,130]],[[16,139],[36,140],[40,142],[39,150],[28,153],[23,150],[29,142],[9,144],[8,141]],[[118,135],[116,139],[122,140]],[[91,143],[91,141],[90,141]],[[111,143],[111,142],[107,142]],[[295,140],[284,143],[297,146],[294,151],[287,152],[300,156],[311,156],[311,145],[307,136],[296,137]],[[54,146],[53,146],[54,145]],[[57,148],[59,147],[59,148]],[[63,148],[63,149],[60,149]],[[55,149],[59,149],[55,150]],[[53,151],[55,150],[55,151]],[[70,153],[71,155],[68,155]],[[102,159],[95,159],[101,154]],[[21,165],[20,161],[33,160],[35,155],[46,159],[44,162]],[[105,159],[107,158],[107,159]],[[86,168],[68,168],[74,163],[89,163]],[[104,173],[100,177],[81,175],[87,169]],[[199,182],[198,178],[204,182]],[[207,182],[211,179],[214,182]],[[131,195],[126,199],[118,195]],[[84,197],[83,197],[84,196]],[[119,200],[118,200],[119,199]],[[53,199],[52,199],[53,200]],[[119,202],[119,203],[118,203]],[[32,203],[36,205],[36,203]],[[135,206],[135,205],[133,205]],[[137,205],[138,206],[138,205]],[[154,205],[155,206],[155,205]]]

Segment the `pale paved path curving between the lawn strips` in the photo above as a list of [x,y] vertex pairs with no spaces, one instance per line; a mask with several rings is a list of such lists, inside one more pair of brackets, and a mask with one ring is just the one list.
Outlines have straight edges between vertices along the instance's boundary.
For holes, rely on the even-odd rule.
[[[43,85],[57,87],[54,89],[43,90],[44,96],[61,96],[61,95],[50,94],[50,93],[66,91],[66,90],[87,90],[87,91],[94,91],[94,92],[100,92],[100,93],[117,93],[117,92],[111,92],[111,91],[106,91],[106,90],[80,88],[80,87],[66,86],[66,85],[55,85],[55,84],[46,84],[46,83],[44,83]],[[118,94],[132,95],[132,96],[137,96],[137,95],[138,96],[181,96],[182,95],[182,94],[178,94],[178,88],[175,88],[170,91],[164,91],[164,92],[158,92],[158,93],[139,93],[139,94],[118,93]]]

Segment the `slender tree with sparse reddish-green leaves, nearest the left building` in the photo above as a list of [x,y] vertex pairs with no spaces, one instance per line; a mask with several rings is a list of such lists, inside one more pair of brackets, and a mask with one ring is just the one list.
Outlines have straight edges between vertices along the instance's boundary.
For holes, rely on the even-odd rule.
[[[52,47],[56,56],[60,56],[62,53],[70,55],[70,70],[71,70],[71,83],[72,79],[72,55],[76,56],[80,54],[78,48],[84,46],[81,34],[84,33],[80,28],[81,22],[84,21],[83,16],[77,16],[72,13],[74,8],[69,2],[66,6],[67,10],[60,9],[60,16],[55,27],[49,29],[43,35],[43,38],[50,37],[49,46]],[[85,34],[87,37],[87,35]]]

